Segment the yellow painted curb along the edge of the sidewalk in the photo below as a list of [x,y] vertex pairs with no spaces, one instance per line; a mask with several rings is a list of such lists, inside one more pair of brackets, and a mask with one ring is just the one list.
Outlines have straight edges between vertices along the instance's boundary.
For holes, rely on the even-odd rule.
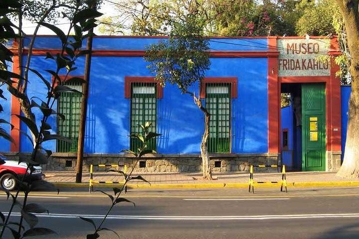
[[[58,188],[88,188],[88,183],[52,182]],[[258,188],[278,188],[281,183],[254,184]],[[121,187],[119,183],[98,183],[96,187]],[[329,181],[329,182],[287,182],[287,187],[353,187],[359,186],[359,181]],[[186,184],[128,184],[129,189],[199,189],[199,188],[248,188],[248,183],[186,183]]]

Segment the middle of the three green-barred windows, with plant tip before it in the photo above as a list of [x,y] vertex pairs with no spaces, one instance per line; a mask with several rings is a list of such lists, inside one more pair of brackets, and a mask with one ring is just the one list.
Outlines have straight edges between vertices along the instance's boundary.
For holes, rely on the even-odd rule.
[[[131,85],[131,134],[143,134],[141,124],[151,122],[150,132],[156,132],[157,121],[157,99],[156,84],[153,83],[132,83]],[[130,148],[137,151],[141,146],[137,138],[130,139]],[[156,138],[153,138],[149,145],[150,149],[156,150]]]

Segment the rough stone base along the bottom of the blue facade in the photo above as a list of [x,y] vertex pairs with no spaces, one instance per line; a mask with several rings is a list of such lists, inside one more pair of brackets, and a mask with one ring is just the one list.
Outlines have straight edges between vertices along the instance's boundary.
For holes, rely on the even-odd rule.
[[[8,158],[17,160],[14,153],[3,153]],[[89,171],[90,164],[120,164],[126,165],[128,171],[135,166],[137,159],[123,154],[85,154],[83,170]],[[251,164],[280,164],[279,154],[211,154],[210,164],[213,172],[248,172]],[[141,167],[140,167],[141,166]],[[75,153],[53,153],[47,165],[42,166],[46,171],[75,171]],[[108,168],[94,167],[95,171],[105,171]],[[255,168],[258,172],[277,172],[278,168]],[[198,154],[155,154],[143,157],[136,165],[134,172],[146,173],[178,173],[201,172],[202,159]]]

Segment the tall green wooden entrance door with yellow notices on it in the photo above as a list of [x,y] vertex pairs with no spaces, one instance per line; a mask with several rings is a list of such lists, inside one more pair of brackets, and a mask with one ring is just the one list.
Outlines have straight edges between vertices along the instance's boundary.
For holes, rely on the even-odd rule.
[[325,171],[325,85],[302,84],[302,170]]

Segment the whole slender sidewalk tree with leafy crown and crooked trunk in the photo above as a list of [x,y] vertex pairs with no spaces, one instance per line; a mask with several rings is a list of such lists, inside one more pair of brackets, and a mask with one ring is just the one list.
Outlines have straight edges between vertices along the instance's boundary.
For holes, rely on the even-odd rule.
[[195,14],[188,12],[179,21],[171,21],[171,33],[168,40],[148,47],[146,61],[149,69],[156,75],[156,80],[165,86],[166,83],[176,85],[181,93],[193,97],[194,103],[204,114],[204,133],[200,144],[202,156],[203,178],[212,179],[207,139],[209,136],[210,115],[203,106],[199,96],[188,91],[193,83],[199,83],[209,69],[208,38],[202,37],[203,21]]

